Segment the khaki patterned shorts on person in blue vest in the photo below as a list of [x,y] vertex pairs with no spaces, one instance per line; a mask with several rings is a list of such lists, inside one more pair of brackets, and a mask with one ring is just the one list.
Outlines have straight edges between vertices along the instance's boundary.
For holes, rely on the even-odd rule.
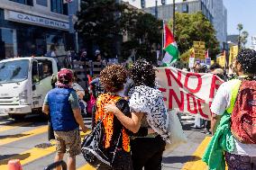
[[81,137],[79,130],[54,131],[57,140],[56,151],[68,153],[69,157],[75,157],[81,153]]

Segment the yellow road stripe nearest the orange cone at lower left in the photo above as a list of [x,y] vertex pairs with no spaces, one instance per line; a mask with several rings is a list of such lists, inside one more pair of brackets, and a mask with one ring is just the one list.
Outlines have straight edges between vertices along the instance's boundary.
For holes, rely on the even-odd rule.
[[36,159],[49,156],[50,154],[54,153],[55,150],[56,150],[55,146],[52,146],[50,148],[32,148],[30,150],[26,150],[23,153],[17,154],[14,157],[8,157],[3,160],[0,160],[0,169],[1,170],[8,169],[7,164],[8,164],[8,161],[11,159],[20,159],[21,165],[24,166]]

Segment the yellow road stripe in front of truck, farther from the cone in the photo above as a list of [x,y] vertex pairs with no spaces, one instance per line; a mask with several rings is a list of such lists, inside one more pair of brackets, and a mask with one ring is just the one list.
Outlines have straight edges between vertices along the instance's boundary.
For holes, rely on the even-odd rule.
[[8,143],[12,143],[16,140],[27,139],[32,136],[39,135],[41,133],[47,132],[47,130],[48,130],[48,126],[41,126],[40,128],[24,131],[23,133],[20,133],[20,134],[0,136],[0,146]]

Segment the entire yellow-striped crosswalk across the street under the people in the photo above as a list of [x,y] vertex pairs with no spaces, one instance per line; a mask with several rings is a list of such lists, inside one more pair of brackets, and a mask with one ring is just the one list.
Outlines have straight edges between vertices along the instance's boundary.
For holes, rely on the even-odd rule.
[[[194,117],[182,115],[181,120],[186,123],[192,123]],[[87,127],[90,128],[91,119],[85,118],[84,121]],[[81,132],[81,138],[85,135]],[[200,157],[202,157],[209,140],[209,138],[206,138],[202,143],[199,141],[198,148],[196,147],[191,152],[192,159],[179,166],[179,168],[175,168],[175,165],[163,161],[163,170],[207,169],[206,165],[200,160]],[[188,148],[191,147],[188,146]],[[184,152],[182,146],[179,149]],[[177,151],[178,153],[180,152],[179,149]],[[188,156],[191,155],[190,153],[188,154]],[[48,141],[48,126],[46,121],[41,121],[40,118],[26,119],[21,122],[15,122],[11,119],[0,121],[0,170],[8,170],[7,163],[10,159],[20,159],[23,170],[42,170],[45,166],[53,162],[54,157],[55,146],[54,142]],[[176,153],[174,153],[173,157],[177,157]],[[196,157],[195,160],[193,160],[193,157]],[[64,160],[66,161],[67,158],[65,157]],[[170,160],[170,162],[174,161]],[[77,157],[77,169],[95,170],[86,163],[82,155]]]

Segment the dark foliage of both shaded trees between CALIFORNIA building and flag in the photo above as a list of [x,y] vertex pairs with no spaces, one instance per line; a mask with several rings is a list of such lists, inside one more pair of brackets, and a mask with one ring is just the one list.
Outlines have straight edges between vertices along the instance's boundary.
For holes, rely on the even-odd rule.
[[155,58],[153,44],[161,42],[161,22],[149,13],[142,13],[115,0],[82,0],[76,29],[90,44],[96,44],[110,56],[114,55],[116,37],[128,34],[122,44],[122,58],[136,51],[136,58]]

